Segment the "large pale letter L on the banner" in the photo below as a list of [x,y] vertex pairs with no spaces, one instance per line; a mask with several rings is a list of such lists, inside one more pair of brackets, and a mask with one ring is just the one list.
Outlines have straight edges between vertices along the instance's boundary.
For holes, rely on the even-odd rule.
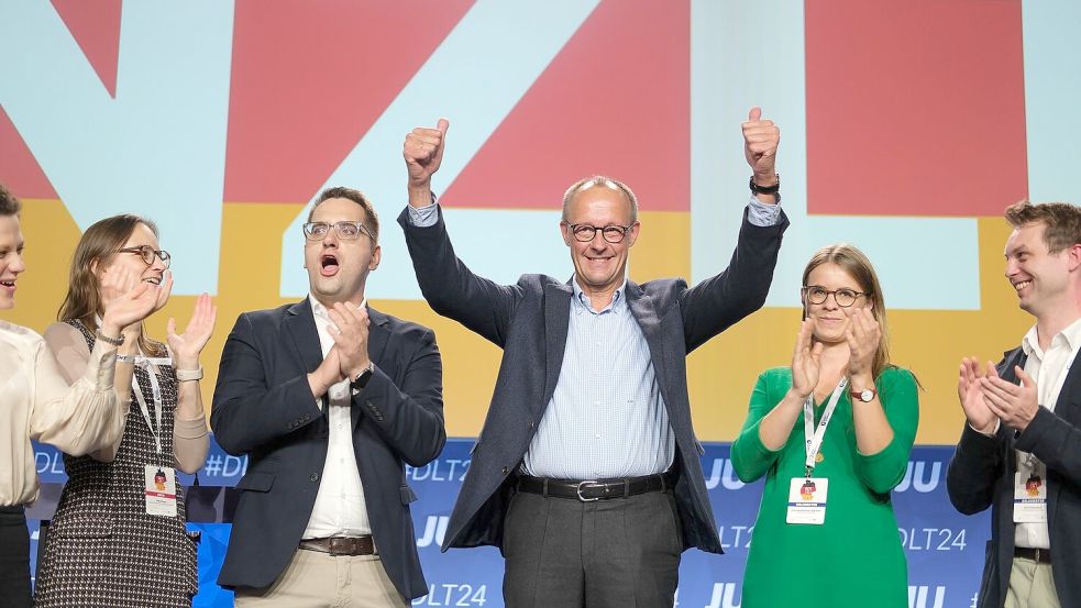
[[[892,308],[978,310],[977,222],[964,218],[807,214],[803,2],[713,2],[691,9],[691,269],[694,280],[728,264],[750,192],[739,122],[751,106],[781,126],[777,167],[792,226],[766,306],[798,307],[810,255],[845,241],[874,262]],[[762,21],[762,15],[770,15]],[[769,30],[763,37],[761,23]],[[762,40],[774,41],[762,49]],[[753,57],[751,56],[753,55]],[[762,75],[769,75],[763,77]],[[720,145],[717,143],[720,142]],[[928,272],[928,269],[934,272]]]

